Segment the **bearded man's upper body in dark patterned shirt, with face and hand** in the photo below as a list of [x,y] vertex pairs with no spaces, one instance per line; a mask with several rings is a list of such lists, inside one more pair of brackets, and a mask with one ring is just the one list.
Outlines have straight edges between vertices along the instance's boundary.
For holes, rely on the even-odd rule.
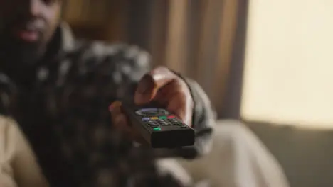
[[[151,167],[148,153],[145,158],[138,150],[137,156],[128,151],[133,141],[143,142],[120,101],[157,101],[196,129],[194,146],[158,150],[159,157],[207,152],[214,116],[200,87],[166,67],[149,71],[149,56],[137,47],[75,40],[60,23],[62,3],[0,1],[1,114],[15,120],[10,124],[17,122],[24,136],[18,128],[14,134],[26,137],[31,147],[16,146],[36,154],[46,181],[51,186],[125,186],[131,166],[139,172]],[[141,165],[119,174],[125,167],[119,164],[138,158]]]

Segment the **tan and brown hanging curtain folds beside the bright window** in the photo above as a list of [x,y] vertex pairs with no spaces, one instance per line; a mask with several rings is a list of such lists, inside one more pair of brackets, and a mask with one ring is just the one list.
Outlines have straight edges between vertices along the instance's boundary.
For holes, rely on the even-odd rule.
[[[170,0],[168,3],[165,29],[157,26],[152,32],[166,31],[165,42],[150,38],[152,49],[164,50],[152,50],[154,62],[198,81],[221,114],[226,108],[224,101],[236,38],[238,1]],[[154,8],[162,7],[165,7],[162,1],[154,2]],[[155,11],[152,18],[159,13]]]

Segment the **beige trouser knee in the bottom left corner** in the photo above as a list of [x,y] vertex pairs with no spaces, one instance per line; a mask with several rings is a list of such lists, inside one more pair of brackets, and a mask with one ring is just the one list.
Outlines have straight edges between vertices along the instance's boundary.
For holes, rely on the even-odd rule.
[[3,116],[0,117],[0,186],[48,186],[18,125]]

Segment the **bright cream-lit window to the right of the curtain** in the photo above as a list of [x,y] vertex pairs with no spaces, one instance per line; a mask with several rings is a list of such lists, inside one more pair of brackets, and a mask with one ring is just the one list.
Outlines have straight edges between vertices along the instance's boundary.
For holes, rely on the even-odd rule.
[[249,4],[241,115],[333,128],[333,1]]

